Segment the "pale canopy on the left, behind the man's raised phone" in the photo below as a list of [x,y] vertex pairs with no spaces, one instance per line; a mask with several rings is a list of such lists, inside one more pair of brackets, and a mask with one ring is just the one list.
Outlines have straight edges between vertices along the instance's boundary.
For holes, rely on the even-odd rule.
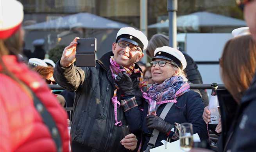
[[112,21],[90,13],[77,13],[60,17],[47,22],[37,23],[24,27],[25,30],[50,30],[50,29],[70,29],[70,28],[93,28],[93,29],[118,29],[130,27],[124,23]]

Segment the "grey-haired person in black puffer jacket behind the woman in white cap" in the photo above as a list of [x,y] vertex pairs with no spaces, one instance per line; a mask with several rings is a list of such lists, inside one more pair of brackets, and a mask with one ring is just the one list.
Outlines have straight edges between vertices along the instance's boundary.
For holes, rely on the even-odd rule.
[[[147,47],[146,53],[149,55],[150,58],[154,57],[154,51],[156,48],[160,48],[162,46],[168,46],[169,45],[169,37],[165,36],[163,34],[155,34],[151,37],[149,40],[149,45]],[[186,62],[188,63],[186,66],[186,69],[184,69],[184,72],[186,73],[186,77],[188,78],[188,81],[191,83],[203,83],[202,77],[200,72],[197,69],[197,64],[195,61],[184,51],[181,51],[183,53]],[[198,92],[201,94],[204,106],[207,106],[209,104],[209,99],[206,90],[194,90],[195,92]]]

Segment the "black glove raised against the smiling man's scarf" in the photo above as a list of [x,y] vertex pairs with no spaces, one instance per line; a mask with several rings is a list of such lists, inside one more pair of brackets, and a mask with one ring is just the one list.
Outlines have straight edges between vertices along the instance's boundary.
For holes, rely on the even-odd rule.
[[118,73],[115,81],[124,96],[134,96],[132,80],[126,72]]

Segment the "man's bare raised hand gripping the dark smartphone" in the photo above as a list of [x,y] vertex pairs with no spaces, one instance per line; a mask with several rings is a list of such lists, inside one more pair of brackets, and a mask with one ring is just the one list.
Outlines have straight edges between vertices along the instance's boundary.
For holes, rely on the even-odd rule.
[[77,39],[79,39],[79,37],[75,37],[75,39],[69,44],[69,46],[64,48],[60,61],[62,67],[69,67],[75,62]]

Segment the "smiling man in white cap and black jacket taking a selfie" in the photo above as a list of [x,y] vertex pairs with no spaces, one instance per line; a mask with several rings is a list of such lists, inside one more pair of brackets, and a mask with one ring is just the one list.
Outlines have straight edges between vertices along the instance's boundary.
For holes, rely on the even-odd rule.
[[[142,73],[136,62],[144,56],[147,37],[134,28],[121,28],[112,51],[97,60],[96,67],[83,68],[73,65],[77,39],[64,49],[54,70],[55,81],[66,90],[75,91],[72,150],[134,150],[137,146],[134,134],[140,134],[135,123],[140,120],[133,118],[140,115],[142,104]],[[125,134],[124,138],[121,126],[127,124],[133,134]]]

